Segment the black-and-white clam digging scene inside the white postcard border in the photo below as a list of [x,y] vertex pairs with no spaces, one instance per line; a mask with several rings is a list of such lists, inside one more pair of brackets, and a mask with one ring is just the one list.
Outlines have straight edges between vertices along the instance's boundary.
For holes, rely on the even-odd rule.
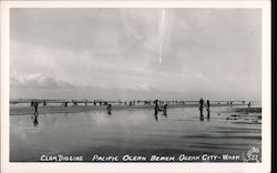
[[263,10],[10,8],[8,162],[261,164]]

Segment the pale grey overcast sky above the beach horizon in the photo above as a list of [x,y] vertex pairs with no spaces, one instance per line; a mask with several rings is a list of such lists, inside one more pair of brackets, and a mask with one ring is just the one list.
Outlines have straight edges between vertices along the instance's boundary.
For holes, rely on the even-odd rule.
[[258,9],[12,9],[10,19],[14,99],[261,96]]

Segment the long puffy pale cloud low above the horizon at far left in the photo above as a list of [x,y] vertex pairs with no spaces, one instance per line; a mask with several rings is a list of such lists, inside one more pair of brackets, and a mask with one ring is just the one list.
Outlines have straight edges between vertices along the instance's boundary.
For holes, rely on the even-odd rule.
[[74,88],[71,83],[44,77],[41,73],[29,75],[13,74],[11,77],[11,86],[21,89],[71,89]]

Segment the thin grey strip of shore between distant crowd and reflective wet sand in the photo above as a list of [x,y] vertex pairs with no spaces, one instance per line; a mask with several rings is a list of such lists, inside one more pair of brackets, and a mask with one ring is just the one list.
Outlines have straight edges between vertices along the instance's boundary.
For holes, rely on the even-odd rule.
[[[233,104],[226,105],[226,104],[212,104],[213,106],[242,106],[246,104]],[[168,104],[167,109],[173,108],[197,108],[198,104]],[[205,108],[205,106],[204,106]],[[154,105],[112,105],[113,110],[141,110],[141,109],[152,109],[154,111]],[[246,109],[246,108],[244,108]],[[250,108],[250,110],[253,110]],[[39,114],[54,114],[54,113],[78,113],[78,112],[89,112],[89,111],[106,111],[106,105],[76,105],[76,106],[39,106]],[[10,106],[10,115],[28,115],[33,114],[33,108],[31,106]]]

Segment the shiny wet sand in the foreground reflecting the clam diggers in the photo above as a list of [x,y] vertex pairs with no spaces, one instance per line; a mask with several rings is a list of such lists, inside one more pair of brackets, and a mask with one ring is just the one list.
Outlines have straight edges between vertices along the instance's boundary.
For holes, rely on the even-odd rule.
[[[196,105],[171,106],[167,116],[158,113],[156,118],[152,106],[117,105],[112,114],[106,113],[106,106],[84,108],[42,106],[40,112],[61,109],[63,113],[39,113],[37,123],[32,113],[10,116],[10,161],[81,155],[84,162],[98,162],[92,157],[102,155],[117,156],[122,162],[124,155],[141,155],[148,162],[152,155],[167,155],[175,156],[173,162],[243,162],[250,146],[261,146],[261,113],[256,108],[211,106],[203,118]],[[239,159],[181,161],[182,154],[234,154]]]

